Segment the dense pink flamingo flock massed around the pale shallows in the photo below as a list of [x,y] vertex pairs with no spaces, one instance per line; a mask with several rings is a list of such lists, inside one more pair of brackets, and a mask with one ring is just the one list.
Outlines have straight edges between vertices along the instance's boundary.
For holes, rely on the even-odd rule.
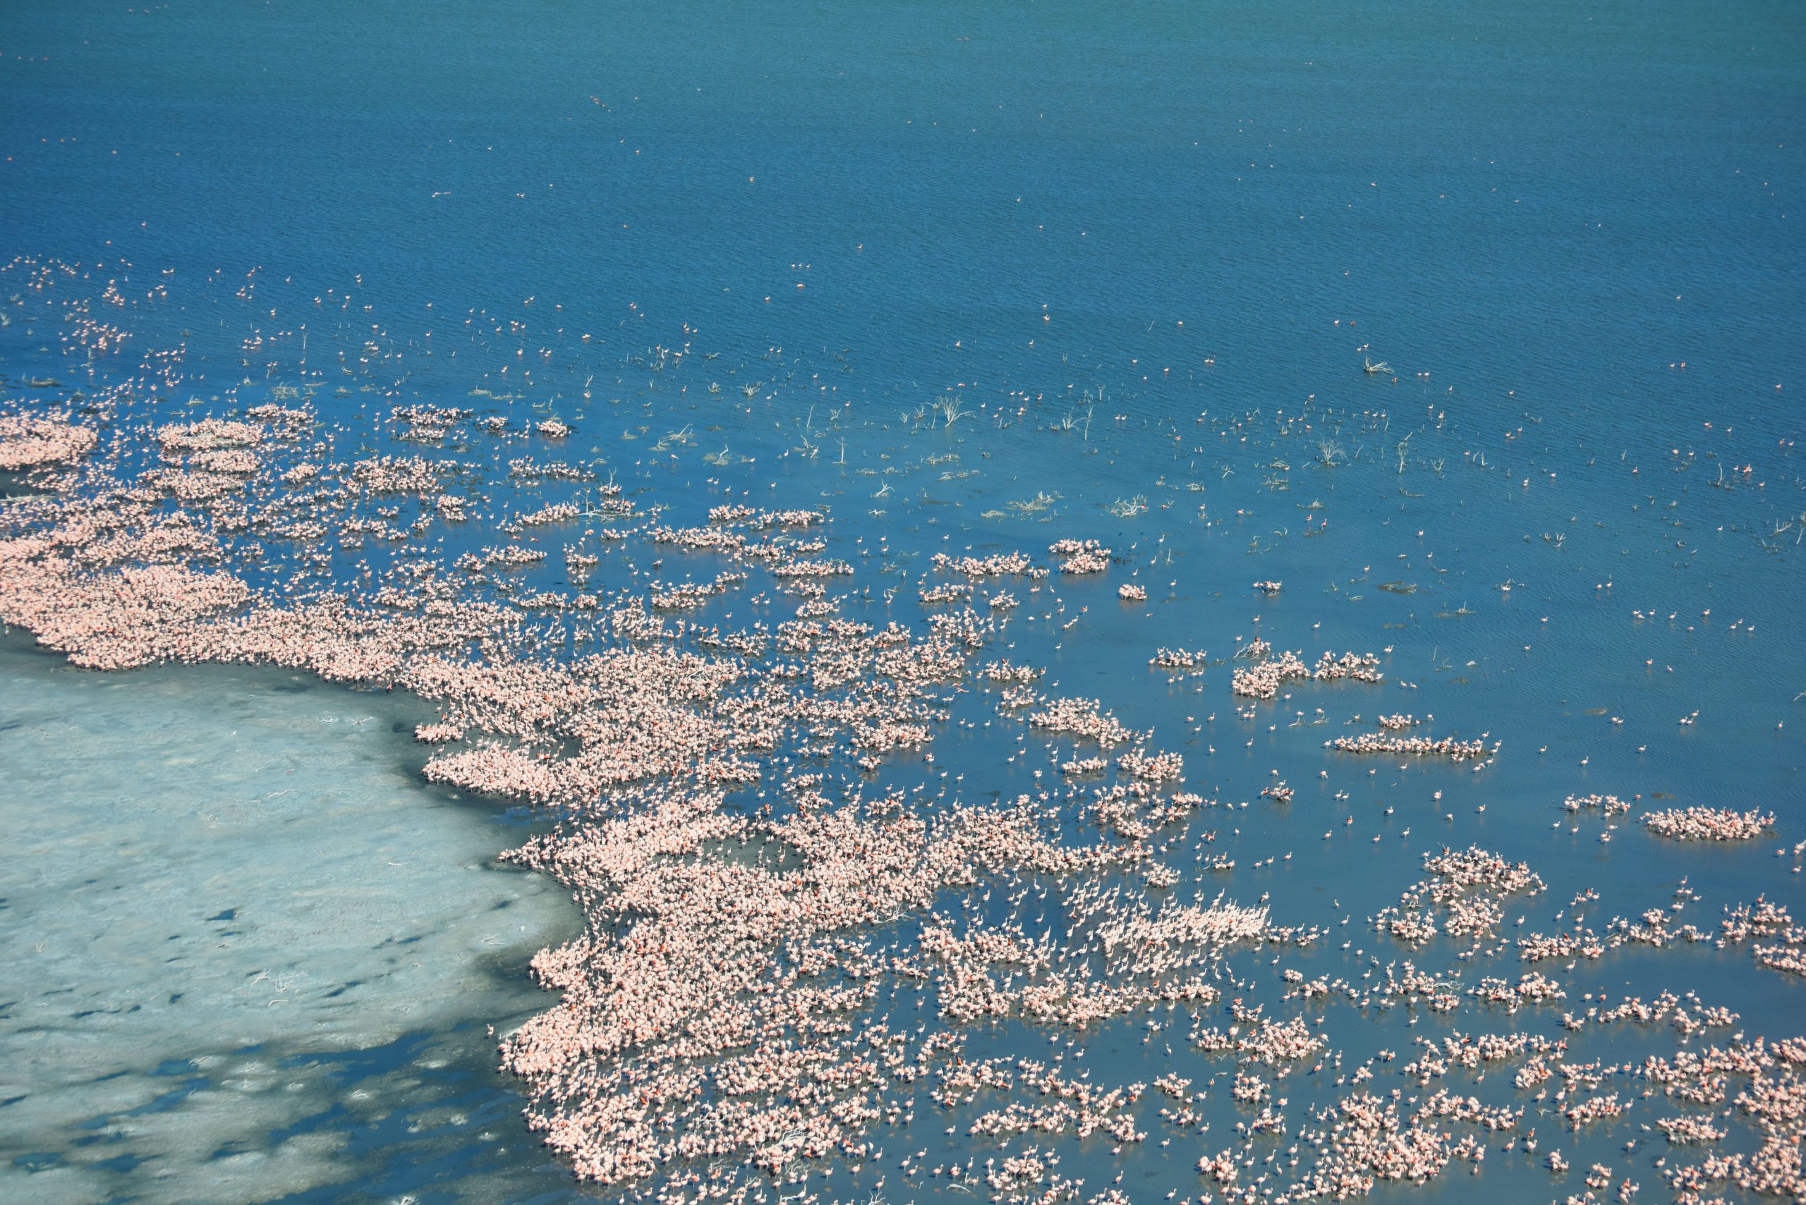
[[[1784,904],[1698,924],[1685,886],[1629,916],[1595,915],[1582,893],[1524,929],[1550,886],[1479,846],[1427,851],[1421,878],[1358,933],[1340,900],[1308,922],[1311,900],[1201,889],[1233,871],[1205,848],[1241,833],[1246,805],[1188,790],[1185,758],[1152,732],[1001,657],[1015,595],[973,606],[975,583],[1008,581],[1035,610],[1062,577],[1107,574],[1094,539],[937,554],[914,595],[921,622],[880,622],[858,584],[867,550],[820,511],[730,501],[684,525],[686,500],[627,498],[565,462],[509,456],[500,473],[511,444],[569,438],[563,422],[388,417],[414,442],[498,440],[500,474],[484,476],[376,451],[307,404],[193,422],[146,422],[123,395],[90,408],[110,420],[31,402],[0,417],[0,469],[34,491],[0,512],[0,622],[92,669],[275,664],[432,702],[439,716],[415,729],[424,776],[540,808],[544,830],[504,859],[582,906],[582,931],[533,960],[556,1005],[500,1035],[498,1059],[527,1127],[583,1180],[661,1201],[856,1201],[890,1178],[1008,1203],[1143,1200],[1062,1165],[1089,1142],[1196,1171],[1201,1205],[1353,1200],[1539,1154],[1555,1183],[1584,1178],[1568,1200],[1631,1201],[1647,1173],[1680,1201],[1806,1200],[1806,1039],[1750,1034],[1690,992],[1578,998],[1564,978],[1625,947],[1746,949],[1763,972],[1806,976],[1806,929]],[[587,489],[549,501],[535,492],[547,483]],[[695,561],[708,572],[681,579],[675,565]],[[518,584],[553,566],[569,590]],[[764,617],[733,622],[726,601]],[[1250,709],[1291,687],[1385,684],[1373,653],[1311,667],[1255,640],[1235,662],[1228,693]],[[1159,649],[1150,664],[1210,660]],[[1011,734],[1022,790],[961,794],[975,767],[952,761],[946,736],[979,723],[959,718],[963,696]],[[1329,750],[1499,756],[1485,734],[1378,723]],[[1309,806],[1284,779],[1261,794]],[[1616,796],[1562,806],[1629,810]],[[1683,842],[1775,823],[1642,815]],[[1438,951],[1447,965],[1416,965]],[[1517,970],[1466,974],[1488,960]],[[1356,1023],[1385,1014],[1463,1028],[1414,1037],[1394,1064],[1360,1048]],[[1559,1035],[1530,1032],[1533,1016]],[[1674,1050],[1569,1046],[1633,1026]],[[997,1053],[986,1035],[1006,1028],[1049,1057]],[[1179,1044],[1206,1072],[1118,1073],[1085,1059],[1105,1035],[1172,1061]],[[1488,1093],[1517,1097],[1483,1099],[1488,1073]],[[1233,1133],[1212,1133],[1214,1102],[1235,1111]],[[912,1129],[928,1109],[963,1145]],[[1636,1118],[1647,1136],[1631,1145],[1663,1158],[1569,1167],[1578,1135]]]

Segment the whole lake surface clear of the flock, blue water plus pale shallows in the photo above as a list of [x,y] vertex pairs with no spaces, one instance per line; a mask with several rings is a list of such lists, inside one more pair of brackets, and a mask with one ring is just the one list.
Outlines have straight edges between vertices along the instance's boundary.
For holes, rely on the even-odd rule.
[[[1109,574],[1020,592],[1006,655],[1152,729],[1194,790],[1248,801],[1210,819],[1237,868],[1187,889],[1358,929],[1423,851],[1481,844],[1548,880],[1519,909],[1542,927],[1586,889],[1597,920],[1683,882],[1701,925],[1763,893],[1806,904],[1797,5],[284,0],[14,4],[0,29],[7,406],[125,386],[135,417],[193,420],[302,390],[347,449],[396,455],[392,406],[558,417],[558,455],[684,523],[722,501],[827,511],[878,622],[932,610],[916,583],[936,552],[1102,539]],[[130,341],[98,355],[76,316]],[[583,500],[518,487],[507,455],[468,451],[482,491]],[[453,532],[446,557],[479,543]],[[598,575],[656,568],[623,550]],[[556,565],[518,583],[567,584]],[[1253,637],[1306,660],[1385,649],[1387,682],[1239,713],[1230,657]],[[1159,648],[1208,658],[1165,673]],[[0,691],[0,756],[33,767],[0,788],[0,1048],[34,1052],[9,1059],[0,1106],[14,1191],[585,1192],[520,1124],[484,1032],[547,1007],[522,967],[574,909],[489,868],[522,817],[419,781],[406,702],[275,671],[103,678],[18,649]],[[1394,711],[1485,732],[1497,759],[1322,747]],[[937,763],[894,779],[1024,788],[991,714],[959,700]],[[278,777],[325,803],[273,801]],[[1286,805],[1261,796],[1275,777]],[[1593,792],[1777,821],[1701,848],[1633,815],[1600,842],[1604,823],[1560,808]],[[408,869],[372,882],[390,860]],[[406,967],[381,954],[412,936]],[[1374,951],[1340,943],[1299,967],[1358,976]],[[262,972],[293,976],[305,1021],[253,1016]],[[1806,1003],[1737,949],[1613,954],[1564,983],[1580,1010],[1699,990],[1777,1039]],[[1326,1032],[1401,1050],[1472,1025]],[[1559,1032],[1559,1010],[1537,1025]],[[1123,1081],[1226,1073],[1143,1037],[1122,1025],[1084,1052]],[[1051,1050],[1013,1028],[986,1043]],[[970,1117],[934,1109],[898,1145],[972,1156],[937,1145]],[[1223,1135],[1241,1115],[1217,1117]],[[1571,1158],[1638,1169],[1649,1200],[1662,1151],[1620,1151],[1640,1120]],[[1172,1147],[1075,1144],[1064,1171],[1087,1196],[1118,1171],[1138,1201],[1201,1194],[1205,1147],[1156,1136]],[[964,1196],[887,1164],[887,1200]],[[876,1174],[825,1191],[865,1200]],[[1580,1191],[1526,1154],[1383,1194]]]

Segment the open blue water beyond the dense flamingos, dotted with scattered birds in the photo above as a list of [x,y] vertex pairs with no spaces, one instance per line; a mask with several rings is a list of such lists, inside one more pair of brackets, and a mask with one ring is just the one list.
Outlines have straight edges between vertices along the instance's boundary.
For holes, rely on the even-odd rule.
[[[1223,882],[1271,893],[1280,922],[1322,922],[1322,897],[1356,918],[1396,902],[1438,842],[1530,860],[1542,911],[1597,886],[1634,915],[1683,875],[1712,915],[1761,889],[1799,911],[1797,862],[1775,857],[1806,837],[1792,5],[172,4],[4,22],[0,258],[83,265],[0,281],[9,399],[143,375],[144,348],[184,345],[146,411],[305,384],[347,429],[412,400],[538,406],[576,428],[562,455],[686,521],[742,494],[829,507],[843,554],[883,545],[870,565],[899,593],[878,619],[917,615],[916,574],[945,547],[1102,538],[1122,563],[1060,583],[1053,621],[1029,601],[1011,655],[1156,729],[1201,790],[1257,799],[1280,770],[1299,797],[1248,808]],[[110,281],[126,305],[101,299]],[[130,354],[65,343],[70,301],[132,330]],[[937,395],[973,413],[914,417]],[[1037,492],[1049,509],[1011,509]],[[1105,509],[1138,496],[1141,512]],[[648,568],[632,556],[603,572]],[[1114,597],[1131,575],[1145,606]],[[1257,633],[1309,657],[1389,648],[1391,682],[1300,687],[1239,720],[1226,664],[1147,667],[1159,646],[1223,658]],[[51,705],[23,669],[5,691]],[[1382,709],[1488,731],[1499,763],[1318,749]],[[1299,711],[1308,727],[1288,727]],[[939,759],[972,792],[1020,777],[977,731],[948,731]],[[1564,796],[1595,790],[1781,823],[1703,851],[1551,830]],[[1710,983],[1754,1032],[1797,1030],[1795,981],[1674,958],[1582,967],[1578,990]],[[423,1041],[502,1008],[471,1001]],[[1118,1037],[1091,1057],[1141,1057]],[[482,1046],[459,1057],[480,1068]],[[388,1138],[359,1124],[320,1122],[363,1160],[320,1183],[432,1182],[390,1183]],[[497,1171],[448,1149],[446,1192],[569,1189],[533,1154]],[[14,1167],[52,1167],[33,1151]],[[1138,1162],[1136,1200],[1194,1192],[1192,1156]],[[1477,1191],[1555,1192],[1526,1169],[1495,1164]],[[307,1185],[269,1194],[289,1187]]]

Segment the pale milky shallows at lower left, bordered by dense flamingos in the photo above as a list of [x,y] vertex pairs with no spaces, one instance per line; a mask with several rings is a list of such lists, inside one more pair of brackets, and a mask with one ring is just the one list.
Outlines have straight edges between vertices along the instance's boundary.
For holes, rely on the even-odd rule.
[[526,961],[578,918],[493,866],[518,824],[417,781],[424,709],[267,671],[98,675],[18,644],[0,653],[5,1194],[562,1183],[482,1026],[544,1007]]

